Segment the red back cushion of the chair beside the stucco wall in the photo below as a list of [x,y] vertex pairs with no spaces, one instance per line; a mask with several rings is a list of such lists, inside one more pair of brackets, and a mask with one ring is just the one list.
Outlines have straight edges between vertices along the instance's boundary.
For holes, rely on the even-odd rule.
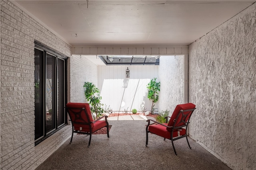
[[[175,127],[177,127],[177,126],[182,126],[182,125],[184,125],[184,123],[183,123],[183,124],[179,124],[179,125],[177,125],[177,124],[174,125],[174,121],[175,121],[176,117],[178,116],[180,110],[194,109],[195,107],[196,107],[196,105],[194,105],[194,104],[192,104],[192,103],[179,104],[179,105],[177,105],[176,108],[174,109],[173,113],[172,113],[172,116],[171,116],[171,119],[170,119],[170,121],[169,121],[169,123],[168,123],[168,126],[175,126]],[[188,114],[188,113],[191,114],[191,112],[184,112],[184,114]],[[185,122],[188,121],[188,118],[189,118],[189,117],[190,117],[190,115],[188,115],[188,116],[186,117]],[[181,119],[181,118],[182,118],[182,115],[180,115],[180,116],[178,117],[178,121],[177,121],[176,123],[180,122],[180,119]],[[168,131],[172,131],[172,128],[167,127],[166,129],[167,129]]]

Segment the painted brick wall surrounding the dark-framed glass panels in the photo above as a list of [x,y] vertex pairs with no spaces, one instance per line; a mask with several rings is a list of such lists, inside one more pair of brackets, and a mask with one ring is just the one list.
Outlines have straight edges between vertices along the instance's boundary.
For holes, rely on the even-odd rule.
[[[0,167],[33,169],[70,136],[70,126],[66,126],[34,146],[34,40],[68,57],[71,46],[11,1],[0,3]],[[77,64],[75,59],[71,63]]]

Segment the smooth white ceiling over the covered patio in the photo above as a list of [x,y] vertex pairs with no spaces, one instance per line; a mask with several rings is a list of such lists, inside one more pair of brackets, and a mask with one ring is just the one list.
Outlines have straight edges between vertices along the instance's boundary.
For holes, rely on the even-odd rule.
[[72,46],[189,45],[255,0],[16,0]]

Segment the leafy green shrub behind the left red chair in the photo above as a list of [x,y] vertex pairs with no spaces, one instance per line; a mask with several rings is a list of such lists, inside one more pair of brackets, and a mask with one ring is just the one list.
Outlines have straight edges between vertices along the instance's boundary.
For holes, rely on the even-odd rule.
[[102,116],[104,113],[103,104],[100,103],[102,97],[100,96],[100,90],[91,82],[84,82],[84,95],[90,104],[92,113],[95,113],[96,119]]

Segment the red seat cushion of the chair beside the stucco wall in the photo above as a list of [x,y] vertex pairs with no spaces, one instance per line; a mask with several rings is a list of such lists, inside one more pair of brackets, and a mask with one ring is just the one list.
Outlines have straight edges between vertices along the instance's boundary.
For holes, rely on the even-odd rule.
[[[167,125],[167,123],[163,123],[164,125]],[[166,139],[171,139],[171,132],[168,131],[166,129],[165,126],[163,125],[150,125],[148,126],[148,131],[150,131],[151,133],[154,133],[160,137],[164,137]],[[185,135],[186,134],[186,129],[177,129],[176,131],[173,132],[173,135],[172,137],[178,137],[178,136],[182,136],[182,135]]]

